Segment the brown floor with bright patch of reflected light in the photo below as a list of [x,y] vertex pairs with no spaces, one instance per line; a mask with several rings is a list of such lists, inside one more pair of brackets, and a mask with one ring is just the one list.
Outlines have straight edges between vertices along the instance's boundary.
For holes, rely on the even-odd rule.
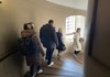
[[73,53],[65,53],[61,59],[54,57],[53,61],[55,64],[44,66],[44,73],[36,77],[82,77],[82,54],[75,58]]

